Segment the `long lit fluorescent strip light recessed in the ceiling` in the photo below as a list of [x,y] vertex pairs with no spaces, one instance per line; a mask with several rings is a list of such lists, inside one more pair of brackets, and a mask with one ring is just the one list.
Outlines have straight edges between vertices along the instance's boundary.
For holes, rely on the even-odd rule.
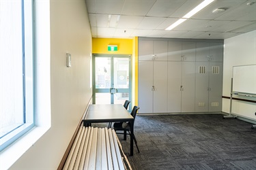
[[179,20],[177,20],[176,22],[174,22],[173,24],[171,24],[167,29],[165,30],[172,30],[175,27],[177,27],[179,24],[181,24],[182,22],[184,22],[185,20],[187,20],[188,18],[190,18],[191,16],[197,14],[197,12],[201,11],[204,7],[206,7],[207,5],[209,5],[210,3],[212,3],[215,0],[205,0],[202,3],[200,3],[199,5],[197,5],[197,7],[195,7],[193,10],[191,10],[190,12],[188,12],[188,14],[184,15],[182,18],[180,18]]

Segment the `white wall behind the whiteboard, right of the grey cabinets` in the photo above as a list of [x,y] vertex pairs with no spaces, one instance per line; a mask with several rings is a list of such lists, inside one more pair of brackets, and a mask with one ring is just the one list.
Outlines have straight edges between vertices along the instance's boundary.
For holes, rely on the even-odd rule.
[[[256,64],[256,31],[224,40],[223,96],[230,97],[233,66]],[[229,113],[229,99],[223,99],[223,112]],[[233,100],[232,113],[256,120],[256,104]]]

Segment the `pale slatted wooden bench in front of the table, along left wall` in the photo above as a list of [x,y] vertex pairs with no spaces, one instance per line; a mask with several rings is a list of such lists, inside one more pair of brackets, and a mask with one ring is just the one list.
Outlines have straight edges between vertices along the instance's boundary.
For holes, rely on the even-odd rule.
[[81,126],[63,169],[132,169],[113,129]]

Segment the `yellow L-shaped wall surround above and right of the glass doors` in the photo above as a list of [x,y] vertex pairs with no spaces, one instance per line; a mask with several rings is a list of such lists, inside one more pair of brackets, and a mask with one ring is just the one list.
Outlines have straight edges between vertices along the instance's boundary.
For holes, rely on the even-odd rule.
[[[117,51],[108,51],[109,45],[117,45]],[[92,38],[93,54],[131,55],[132,64],[132,105],[138,105],[138,37],[133,39]]]

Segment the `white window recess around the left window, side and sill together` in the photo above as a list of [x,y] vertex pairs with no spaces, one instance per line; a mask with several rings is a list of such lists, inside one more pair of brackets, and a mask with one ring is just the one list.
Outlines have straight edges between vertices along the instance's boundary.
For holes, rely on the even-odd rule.
[[[33,0],[35,126],[0,152],[0,169],[10,167],[51,129],[50,0]],[[15,153],[15,154],[14,154]]]

